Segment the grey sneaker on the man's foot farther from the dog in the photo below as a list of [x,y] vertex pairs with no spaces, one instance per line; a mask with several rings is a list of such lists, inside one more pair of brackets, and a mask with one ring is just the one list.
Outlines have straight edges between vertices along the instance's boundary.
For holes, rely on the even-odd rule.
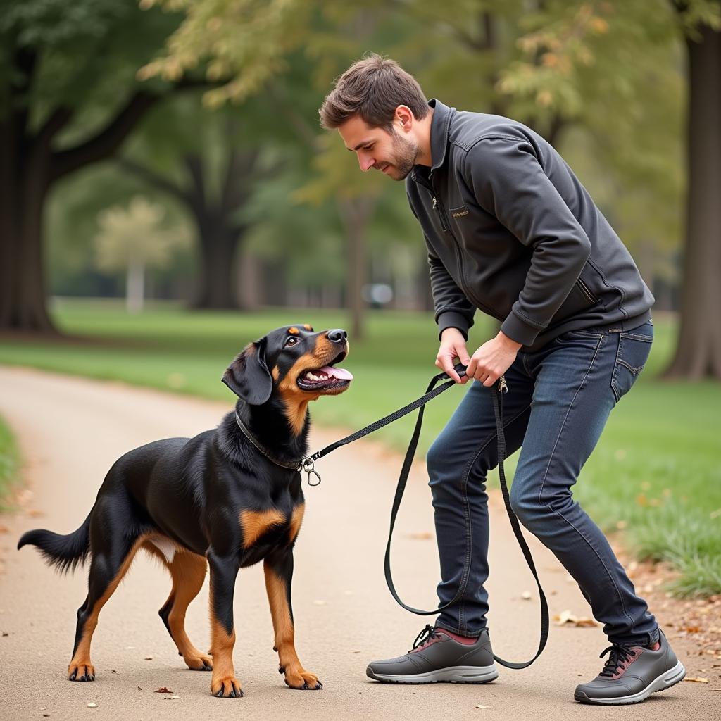
[[670,689],[686,676],[684,664],[676,658],[663,631],[653,648],[613,644],[603,671],[573,694],[582,704],[638,704],[655,691]]

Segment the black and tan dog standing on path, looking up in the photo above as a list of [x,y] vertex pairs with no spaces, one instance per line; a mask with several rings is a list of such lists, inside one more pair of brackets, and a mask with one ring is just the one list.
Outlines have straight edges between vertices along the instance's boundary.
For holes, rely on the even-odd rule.
[[[194,438],[165,438],[115,461],[97,500],[67,536],[28,531],[50,564],[71,570],[90,556],[88,595],[78,609],[71,681],[93,681],[90,642],[97,619],[139,549],[159,558],[172,590],[159,614],[185,663],[213,671],[211,693],[243,695],[233,668],[233,594],[241,567],[262,560],[280,673],[293,689],[321,689],[298,660],[291,610],[293,544],[301,527],[301,474],[308,403],[348,388],[334,368],[348,354],[345,331],[283,327],[248,345],[223,381],[239,397],[218,428]],[[237,414],[237,417],[236,417]],[[244,426],[244,430],[242,428]],[[210,565],[211,650],[185,634],[185,611]]]

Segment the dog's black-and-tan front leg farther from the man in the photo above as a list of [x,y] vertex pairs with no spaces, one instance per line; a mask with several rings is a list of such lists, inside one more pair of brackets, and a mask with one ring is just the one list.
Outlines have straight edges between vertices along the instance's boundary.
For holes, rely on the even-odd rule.
[[240,562],[237,554],[223,556],[212,548],[206,555],[211,569],[211,694],[226,699],[239,699],[243,691],[233,670],[233,593]]

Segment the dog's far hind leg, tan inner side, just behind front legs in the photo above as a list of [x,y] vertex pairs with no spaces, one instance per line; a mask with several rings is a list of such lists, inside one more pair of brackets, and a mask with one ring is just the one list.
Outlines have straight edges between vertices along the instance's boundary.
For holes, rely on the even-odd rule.
[[172,561],[168,563],[151,543],[146,543],[144,547],[163,560],[173,579],[170,596],[158,614],[177,646],[178,654],[193,671],[212,671],[211,657],[200,653],[185,633],[185,611],[190,601],[198,596],[200,588],[203,587],[208,562],[203,556],[182,551],[176,552]]

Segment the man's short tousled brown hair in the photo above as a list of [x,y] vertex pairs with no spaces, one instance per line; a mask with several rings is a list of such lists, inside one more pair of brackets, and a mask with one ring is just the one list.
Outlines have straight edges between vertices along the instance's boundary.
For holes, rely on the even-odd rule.
[[396,61],[371,53],[337,79],[318,112],[326,130],[360,115],[371,128],[390,131],[399,105],[410,107],[416,118],[428,115],[428,100],[417,80]]

